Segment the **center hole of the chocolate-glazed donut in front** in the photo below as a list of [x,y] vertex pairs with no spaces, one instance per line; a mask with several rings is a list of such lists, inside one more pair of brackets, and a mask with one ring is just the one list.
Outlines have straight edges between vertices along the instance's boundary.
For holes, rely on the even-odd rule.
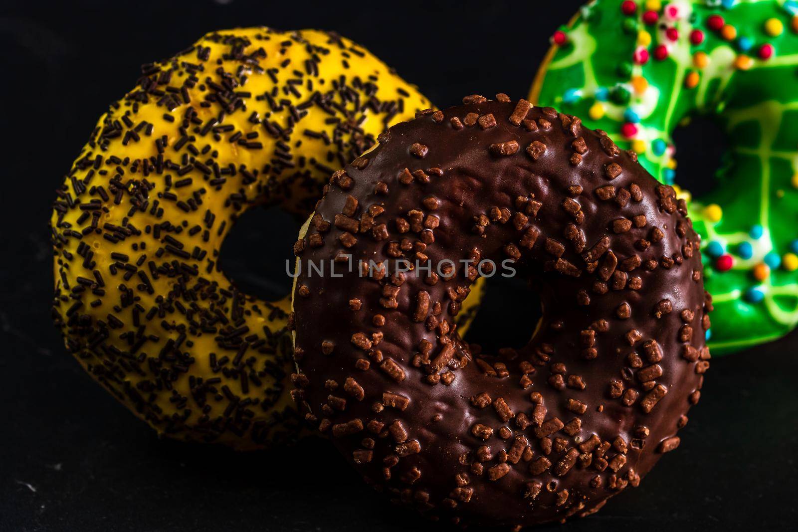
[[480,309],[464,340],[479,344],[482,353],[491,355],[502,348],[521,349],[542,315],[539,290],[529,285],[527,275],[520,270],[512,278],[494,275],[486,279]]

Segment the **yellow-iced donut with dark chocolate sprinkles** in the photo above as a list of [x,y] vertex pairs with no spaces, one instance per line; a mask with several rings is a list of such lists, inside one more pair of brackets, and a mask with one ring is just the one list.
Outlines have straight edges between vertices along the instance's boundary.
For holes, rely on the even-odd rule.
[[306,215],[334,168],[429,106],[317,30],[208,33],[144,65],[57,191],[53,317],[69,352],[163,435],[293,435],[289,300],[236,289],[223,239],[256,204]]

